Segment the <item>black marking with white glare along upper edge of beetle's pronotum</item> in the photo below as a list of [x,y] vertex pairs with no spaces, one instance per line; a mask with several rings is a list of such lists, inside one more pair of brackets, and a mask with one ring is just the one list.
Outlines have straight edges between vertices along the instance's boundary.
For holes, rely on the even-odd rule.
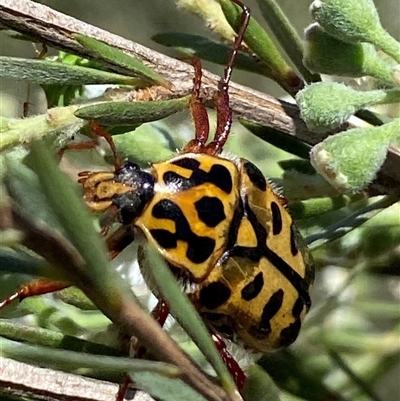
[[183,191],[209,182],[227,194],[232,192],[231,173],[221,164],[213,164],[209,172],[199,168],[200,163],[189,157],[177,160],[173,164],[192,170],[192,174],[189,178],[186,178],[174,171],[167,171],[163,174],[163,180],[166,185],[175,185]]

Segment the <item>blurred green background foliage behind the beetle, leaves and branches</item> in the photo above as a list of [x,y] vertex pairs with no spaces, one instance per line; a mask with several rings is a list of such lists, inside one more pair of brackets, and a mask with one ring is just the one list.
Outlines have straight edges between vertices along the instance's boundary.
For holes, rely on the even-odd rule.
[[[42,3],[166,54],[176,53],[152,42],[153,35],[186,32],[218,40],[198,18],[177,10],[172,0],[114,0],[103,3],[90,0],[49,0]],[[308,13],[310,3],[290,0],[279,2],[300,32],[311,21]],[[253,16],[262,21],[255,2],[247,0],[246,4],[254,11]],[[376,0],[375,4],[382,25],[399,39],[399,1]],[[34,56],[29,42],[12,40],[2,32],[0,52],[8,56]],[[221,73],[221,67],[211,63],[205,63],[205,68]],[[276,84],[253,74],[235,71],[233,80],[275,96],[283,94]],[[21,116],[27,84],[8,80],[0,82],[0,114],[7,117]],[[31,88],[30,114],[44,112],[43,93],[34,85]],[[169,147],[169,150],[180,147],[192,135],[187,114],[180,113],[165,124],[158,123],[156,127],[153,131],[157,132],[156,135],[161,132],[161,140],[166,141],[165,132],[168,132],[168,140],[172,138],[172,142],[164,146]],[[118,146],[118,139],[116,141]],[[144,142],[142,146],[145,148],[147,145]],[[291,157],[252,136],[239,124],[235,126],[229,150],[255,162],[277,183],[282,182],[282,169],[278,162]],[[71,157],[69,166],[73,165],[74,169],[80,170],[83,158],[83,163],[87,164],[86,156],[76,155]],[[296,177],[293,180],[296,182]],[[292,185],[290,193],[295,192],[296,188],[293,189]],[[291,197],[289,193],[287,195]],[[299,225],[306,237],[321,233],[333,222],[346,218],[350,219],[351,226],[356,219],[352,218],[353,214],[367,206],[368,201],[365,199],[353,200],[338,210],[311,220],[299,221]],[[400,397],[399,203],[385,207],[383,212],[347,235],[328,244],[314,243],[313,248],[317,278],[312,293],[313,308],[304,329],[290,351],[263,356],[260,364],[283,389],[282,400],[397,401]],[[116,266],[124,277],[132,280],[135,293],[153,305],[154,299],[150,299],[143,282],[138,279],[137,269],[131,268],[133,255],[132,249],[125,252],[116,261]],[[3,277],[0,298],[24,280],[26,277]],[[55,302],[53,298],[27,299],[21,306],[19,310],[5,310],[2,317],[22,315],[24,323],[35,323],[55,332],[107,345],[115,342],[113,329],[108,327],[108,321],[103,315],[96,311],[81,311],[71,305]],[[35,311],[34,315],[28,313],[32,311]],[[182,338],[184,347],[193,353],[197,352],[179,329],[174,328],[173,334]]]

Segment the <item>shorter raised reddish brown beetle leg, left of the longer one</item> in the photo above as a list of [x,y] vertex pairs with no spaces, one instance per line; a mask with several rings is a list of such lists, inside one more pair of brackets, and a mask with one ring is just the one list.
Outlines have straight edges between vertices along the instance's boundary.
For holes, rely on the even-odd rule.
[[195,127],[195,139],[192,139],[184,149],[184,152],[199,152],[201,151],[208,139],[210,125],[208,121],[207,109],[200,99],[201,88],[201,61],[198,58],[192,59],[194,67],[192,97],[190,99],[190,114]]

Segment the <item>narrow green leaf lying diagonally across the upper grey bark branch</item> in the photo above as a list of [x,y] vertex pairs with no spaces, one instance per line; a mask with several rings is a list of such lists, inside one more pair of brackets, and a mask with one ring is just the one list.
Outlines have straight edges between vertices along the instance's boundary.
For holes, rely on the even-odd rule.
[[132,72],[135,76],[145,78],[146,80],[164,86],[165,88],[171,86],[171,84],[161,75],[157,74],[152,68],[142,63],[138,58],[89,36],[75,34],[73,37],[85,49],[89,50],[94,57],[98,57],[108,63],[122,67],[125,70]]

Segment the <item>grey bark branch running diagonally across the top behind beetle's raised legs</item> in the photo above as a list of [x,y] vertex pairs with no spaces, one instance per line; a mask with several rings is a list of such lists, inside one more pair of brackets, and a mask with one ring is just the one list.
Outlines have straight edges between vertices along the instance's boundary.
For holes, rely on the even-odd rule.
[[[192,87],[193,69],[189,64],[172,59],[156,51],[131,42],[100,28],[59,13],[29,0],[1,0],[0,26],[27,34],[56,48],[90,57],[72,37],[73,33],[87,35],[140,58],[170,81],[176,95],[186,95]],[[116,66],[111,66],[116,69]],[[219,77],[204,71],[203,95],[212,99]],[[310,132],[299,117],[296,105],[278,100],[232,83],[231,106],[234,113],[248,120],[295,136],[310,145],[327,135]],[[375,194],[400,196],[400,150],[391,148],[386,162],[370,187]]]

